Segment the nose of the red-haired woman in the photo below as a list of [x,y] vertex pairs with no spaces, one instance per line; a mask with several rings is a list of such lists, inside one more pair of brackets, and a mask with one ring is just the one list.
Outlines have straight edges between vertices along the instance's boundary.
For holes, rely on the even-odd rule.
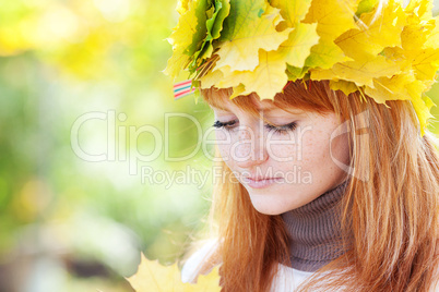
[[240,125],[230,155],[235,163],[242,169],[263,163],[269,158],[263,129]]

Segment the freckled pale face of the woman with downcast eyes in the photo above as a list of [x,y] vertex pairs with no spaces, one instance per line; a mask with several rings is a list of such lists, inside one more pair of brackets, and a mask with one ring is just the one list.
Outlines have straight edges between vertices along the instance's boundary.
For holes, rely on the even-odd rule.
[[[222,158],[247,188],[254,208],[278,215],[308,204],[341,184],[348,137],[335,113],[280,109],[256,100],[263,119],[225,99],[215,113]],[[287,111],[286,111],[287,110]]]

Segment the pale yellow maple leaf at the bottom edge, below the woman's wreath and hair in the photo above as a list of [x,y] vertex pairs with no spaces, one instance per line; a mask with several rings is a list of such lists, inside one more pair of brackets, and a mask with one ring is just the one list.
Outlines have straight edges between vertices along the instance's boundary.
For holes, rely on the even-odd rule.
[[220,291],[218,269],[201,275],[197,284],[183,283],[177,264],[165,267],[157,260],[149,260],[143,254],[137,273],[127,278],[135,292],[210,292]]

